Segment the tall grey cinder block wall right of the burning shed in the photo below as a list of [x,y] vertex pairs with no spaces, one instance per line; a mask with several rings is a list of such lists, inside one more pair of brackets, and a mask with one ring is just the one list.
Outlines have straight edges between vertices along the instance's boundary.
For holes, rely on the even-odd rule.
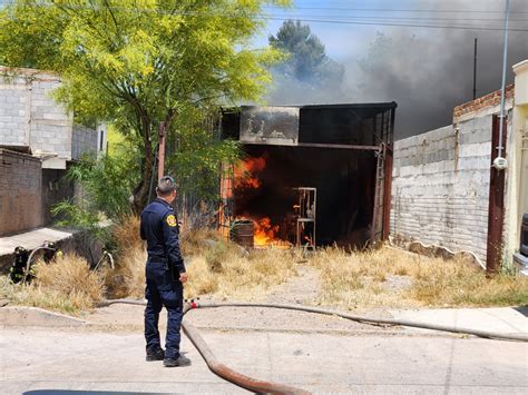
[[486,261],[491,115],[394,144],[391,234]]

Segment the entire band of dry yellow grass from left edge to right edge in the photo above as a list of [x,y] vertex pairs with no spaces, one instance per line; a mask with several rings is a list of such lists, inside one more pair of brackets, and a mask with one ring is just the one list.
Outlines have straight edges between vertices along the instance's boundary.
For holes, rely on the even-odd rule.
[[[70,314],[89,309],[104,297],[143,298],[146,251],[138,227],[138,219],[130,218],[115,229],[115,270],[91,273],[86,260],[66,255],[53,264],[38,265],[30,286],[13,286],[2,277],[0,292],[16,304]],[[295,249],[247,253],[212,230],[184,233],[182,249],[189,274],[187,298],[255,300],[294,277],[302,260]],[[389,247],[355,253],[326,248],[313,254],[306,265],[320,273],[315,304],[344,308],[528,304],[527,278],[487,278],[461,257],[446,260]]]

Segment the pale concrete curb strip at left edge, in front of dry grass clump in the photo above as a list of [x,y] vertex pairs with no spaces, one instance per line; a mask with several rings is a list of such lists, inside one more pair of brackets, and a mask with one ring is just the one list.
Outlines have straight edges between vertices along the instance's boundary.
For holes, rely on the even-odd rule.
[[86,324],[82,319],[38,307],[8,306],[0,308],[0,325],[2,326],[71,327]]

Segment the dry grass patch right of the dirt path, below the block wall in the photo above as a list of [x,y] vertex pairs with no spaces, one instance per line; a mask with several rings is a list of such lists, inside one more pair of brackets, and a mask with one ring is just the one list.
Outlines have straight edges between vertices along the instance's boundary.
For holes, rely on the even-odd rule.
[[465,258],[444,260],[393,248],[348,254],[323,249],[319,303],[353,307],[507,306],[528,304],[528,279],[487,278]]

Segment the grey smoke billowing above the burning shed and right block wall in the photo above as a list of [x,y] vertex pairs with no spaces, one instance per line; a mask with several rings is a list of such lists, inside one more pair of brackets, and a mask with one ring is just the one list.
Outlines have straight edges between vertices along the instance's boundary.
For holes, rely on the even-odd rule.
[[[383,1],[378,3],[378,7]],[[387,3],[387,1],[385,1]],[[437,2],[438,4],[438,2]],[[407,2],[409,9],[433,9],[434,3]],[[449,10],[498,10],[503,1],[442,1]],[[525,13],[521,13],[525,12]],[[415,17],[415,14],[413,14]],[[502,27],[500,13],[431,13],[431,18],[457,18],[436,24],[478,24]],[[511,1],[510,28],[528,30],[528,2]],[[420,21],[414,21],[414,23]],[[429,21],[432,23],[431,21]],[[354,39],[353,26],[351,40]],[[502,31],[372,28],[360,55],[345,57],[340,62],[345,69],[344,80],[317,86],[277,76],[271,105],[305,105],[335,102],[397,101],[395,138],[404,138],[451,124],[453,107],[472,99],[473,42],[478,39],[477,97],[500,88],[502,70]],[[324,38],[323,38],[324,42]],[[343,46],[349,43],[343,42]],[[509,32],[507,82],[514,81],[511,66],[528,59],[528,32]],[[339,88],[336,89],[336,86]]]

